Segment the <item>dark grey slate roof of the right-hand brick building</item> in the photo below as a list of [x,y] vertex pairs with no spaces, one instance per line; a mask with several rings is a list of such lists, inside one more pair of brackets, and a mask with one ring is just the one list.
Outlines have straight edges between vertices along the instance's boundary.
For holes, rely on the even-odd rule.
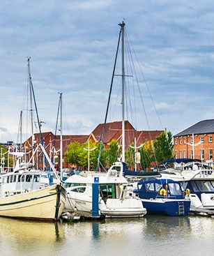
[[203,120],[195,123],[193,126],[183,130],[181,133],[174,135],[174,137],[180,137],[185,135],[194,134],[206,134],[206,133],[214,133],[214,119]]

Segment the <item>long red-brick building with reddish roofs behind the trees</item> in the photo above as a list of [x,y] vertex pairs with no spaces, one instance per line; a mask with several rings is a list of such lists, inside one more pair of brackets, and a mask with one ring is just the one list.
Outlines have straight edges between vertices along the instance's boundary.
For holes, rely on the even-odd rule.
[[[72,142],[79,142],[80,144],[87,142],[88,140],[91,140],[92,142],[100,142],[102,137],[102,130],[103,130],[104,123],[100,123],[90,135],[63,135],[63,168],[70,167],[72,165],[71,163],[66,163],[66,156],[65,152],[68,149],[68,145]],[[155,140],[158,135],[162,133],[162,130],[141,130],[137,131],[132,124],[129,121],[125,121],[125,149],[128,149],[128,146],[132,144],[135,141],[136,138],[136,144],[137,146],[143,144],[146,141]],[[49,157],[52,158],[53,156],[53,146],[54,146],[54,134],[52,132],[42,133],[43,141],[45,144],[45,149],[47,151],[47,154],[49,154]],[[103,143],[105,144],[105,147],[108,147],[109,143],[112,142],[112,140],[116,140],[121,144],[122,140],[122,122],[121,121],[115,121],[112,123],[106,123],[106,129],[105,129],[105,136]],[[40,142],[40,135],[36,133],[34,135],[34,148],[36,147],[36,144]],[[26,159],[29,160],[31,157],[31,143],[32,139],[29,137],[28,140],[26,140],[22,144],[23,151],[26,152]],[[60,135],[56,135],[56,141],[55,141],[55,151],[58,152],[60,149]],[[59,155],[59,153],[58,153]],[[41,150],[38,151],[36,154],[36,162],[38,163],[38,167],[43,168],[44,166],[44,159],[43,159],[43,153]],[[56,167],[59,167],[59,163],[55,165]]]

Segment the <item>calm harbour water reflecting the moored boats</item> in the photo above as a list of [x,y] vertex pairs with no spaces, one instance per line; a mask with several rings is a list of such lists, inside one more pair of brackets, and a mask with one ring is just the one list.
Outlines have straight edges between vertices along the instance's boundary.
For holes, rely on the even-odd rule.
[[146,216],[54,224],[0,218],[0,255],[214,255],[214,219]]

